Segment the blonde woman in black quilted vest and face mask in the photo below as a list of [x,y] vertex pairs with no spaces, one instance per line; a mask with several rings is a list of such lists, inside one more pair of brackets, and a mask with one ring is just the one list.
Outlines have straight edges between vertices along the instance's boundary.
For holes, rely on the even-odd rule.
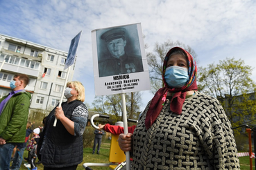
[[[46,117],[40,135],[37,156],[47,169],[76,169],[83,161],[83,132],[88,120],[85,88],[80,82],[68,82],[62,102]],[[55,118],[58,119],[53,126]]]

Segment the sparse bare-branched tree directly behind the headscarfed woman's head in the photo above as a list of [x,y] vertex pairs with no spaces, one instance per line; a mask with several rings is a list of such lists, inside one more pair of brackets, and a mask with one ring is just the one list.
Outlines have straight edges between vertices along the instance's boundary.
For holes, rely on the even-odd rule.
[[155,94],[159,88],[164,86],[162,82],[162,64],[164,63],[165,55],[167,55],[168,51],[175,46],[179,46],[187,50],[194,59],[197,57],[195,51],[190,46],[187,46],[180,41],[167,40],[163,44],[156,43],[153,53],[147,53],[151,79],[151,92],[153,94]]

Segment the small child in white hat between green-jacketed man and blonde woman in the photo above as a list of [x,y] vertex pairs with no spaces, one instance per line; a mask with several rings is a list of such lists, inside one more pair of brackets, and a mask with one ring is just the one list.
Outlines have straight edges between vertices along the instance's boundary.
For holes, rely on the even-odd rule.
[[40,138],[40,136],[38,135],[39,133],[40,133],[39,128],[34,129],[33,130],[33,137],[28,142],[28,146],[26,147],[26,149],[28,150],[28,163],[24,164],[25,167],[31,168],[31,164],[32,164],[32,167],[34,166],[36,168],[35,162],[32,162],[32,161],[35,161],[36,158],[37,158],[36,154],[35,154],[35,150],[36,150],[36,147],[37,147],[36,139]]

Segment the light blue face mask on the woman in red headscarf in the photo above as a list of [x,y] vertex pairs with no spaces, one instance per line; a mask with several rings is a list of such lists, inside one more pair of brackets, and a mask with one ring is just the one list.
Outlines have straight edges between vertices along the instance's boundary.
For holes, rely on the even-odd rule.
[[187,68],[170,66],[165,70],[164,79],[169,87],[181,88],[189,80],[189,74]]

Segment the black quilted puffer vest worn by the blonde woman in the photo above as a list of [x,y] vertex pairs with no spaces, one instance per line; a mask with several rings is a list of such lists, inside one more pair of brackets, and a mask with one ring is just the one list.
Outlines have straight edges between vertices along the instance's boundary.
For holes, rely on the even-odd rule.
[[[78,100],[62,103],[62,110],[65,116],[71,119],[71,113],[77,106],[83,104]],[[84,105],[84,104],[83,104]],[[51,111],[46,119],[44,126],[44,136],[40,138],[42,148],[40,151],[41,161],[45,167],[60,168],[80,164],[83,161],[83,135],[71,135],[65,126],[58,120],[57,125],[53,126],[55,120],[54,111]]]

